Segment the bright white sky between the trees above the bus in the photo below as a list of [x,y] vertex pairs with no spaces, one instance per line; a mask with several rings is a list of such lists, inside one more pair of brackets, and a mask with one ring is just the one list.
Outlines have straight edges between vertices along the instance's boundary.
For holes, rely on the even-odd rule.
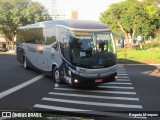
[[[41,3],[49,13],[53,11],[52,0],[33,0]],[[77,10],[78,19],[99,21],[100,14],[108,6],[123,0],[56,0],[57,12],[63,14],[66,11]]]

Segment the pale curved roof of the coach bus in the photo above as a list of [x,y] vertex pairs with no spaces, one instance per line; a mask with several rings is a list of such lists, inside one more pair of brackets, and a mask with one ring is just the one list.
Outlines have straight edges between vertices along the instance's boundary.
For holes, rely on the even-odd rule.
[[97,21],[86,21],[86,20],[50,20],[44,22],[38,22],[35,24],[22,26],[19,29],[32,29],[32,28],[45,28],[52,26],[65,26],[71,29],[106,29],[110,30],[105,24]]

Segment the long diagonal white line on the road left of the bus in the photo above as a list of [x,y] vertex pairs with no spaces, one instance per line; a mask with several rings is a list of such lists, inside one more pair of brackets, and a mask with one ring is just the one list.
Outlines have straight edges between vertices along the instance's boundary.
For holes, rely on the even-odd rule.
[[17,86],[15,86],[15,87],[11,88],[11,89],[8,89],[8,90],[6,90],[6,91],[4,91],[4,92],[1,92],[1,93],[0,93],[0,99],[3,98],[3,97],[5,97],[5,96],[7,96],[7,95],[9,95],[9,94],[11,94],[11,93],[13,93],[13,92],[15,92],[15,91],[17,91],[17,90],[20,90],[20,89],[26,87],[26,86],[28,86],[28,85],[30,85],[30,84],[38,81],[38,80],[40,80],[40,79],[43,78],[44,76],[45,76],[45,75],[43,75],[43,74],[38,75],[37,77],[35,77],[35,78],[33,78],[33,79],[31,79],[31,80],[29,80],[29,81],[27,81],[27,82],[24,82],[24,83],[22,83],[22,84],[20,84],[20,85],[17,85]]

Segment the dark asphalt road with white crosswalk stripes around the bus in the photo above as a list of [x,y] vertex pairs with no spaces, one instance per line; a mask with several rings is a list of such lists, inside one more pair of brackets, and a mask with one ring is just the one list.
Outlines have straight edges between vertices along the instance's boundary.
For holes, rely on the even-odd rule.
[[50,115],[122,119],[136,113],[160,116],[160,66],[118,65],[117,77],[116,82],[97,88],[68,85],[55,88],[51,77],[24,70],[15,55],[0,54],[0,111],[45,111]]

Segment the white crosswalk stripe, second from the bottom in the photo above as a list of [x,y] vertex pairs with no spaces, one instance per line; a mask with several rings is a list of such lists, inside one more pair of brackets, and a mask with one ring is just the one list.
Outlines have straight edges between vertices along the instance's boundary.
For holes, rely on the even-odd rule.
[[142,109],[141,105],[128,105],[128,104],[115,104],[115,103],[100,103],[100,102],[89,102],[89,101],[79,101],[79,100],[66,100],[66,99],[56,99],[56,98],[46,98],[42,100],[52,101],[52,102],[63,102],[63,103],[74,103],[83,105],[95,105],[95,106],[107,106],[107,107],[121,107],[121,108],[139,108]]

